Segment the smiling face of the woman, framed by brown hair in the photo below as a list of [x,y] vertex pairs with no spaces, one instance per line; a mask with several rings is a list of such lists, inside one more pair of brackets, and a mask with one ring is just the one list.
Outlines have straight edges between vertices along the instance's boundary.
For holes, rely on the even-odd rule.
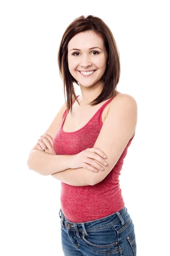
[[80,32],[68,43],[68,68],[81,86],[90,87],[102,83],[107,58],[103,38],[94,32]]

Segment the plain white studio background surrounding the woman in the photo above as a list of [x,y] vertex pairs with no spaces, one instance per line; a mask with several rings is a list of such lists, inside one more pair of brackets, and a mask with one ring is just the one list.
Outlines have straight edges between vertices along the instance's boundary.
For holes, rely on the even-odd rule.
[[170,20],[168,1],[150,0],[1,1],[0,255],[63,255],[60,181],[28,169],[27,159],[64,102],[57,51],[65,29],[81,15],[100,17],[111,29],[121,61],[117,90],[138,104],[120,176],[137,256],[167,255]]

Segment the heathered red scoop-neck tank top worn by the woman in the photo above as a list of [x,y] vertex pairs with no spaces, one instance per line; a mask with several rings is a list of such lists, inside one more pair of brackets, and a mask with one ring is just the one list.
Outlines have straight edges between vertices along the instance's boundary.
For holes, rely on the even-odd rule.
[[[93,148],[103,125],[102,112],[114,97],[108,99],[89,122],[77,131],[65,132],[62,130],[67,115],[66,109],[62,116],[62,123],[53,139],[56,154],[73,155],[86,148]],[[119,175],[127,154],[127,148],[133,137],[127,143],[116,165],[101,182],[94,186],[71,186],[61,182],[61,209],[68,221],[75,223],[93,221],[111,215],[125,206],[119,185]],[[87,170],[87,172],[89,171]]]

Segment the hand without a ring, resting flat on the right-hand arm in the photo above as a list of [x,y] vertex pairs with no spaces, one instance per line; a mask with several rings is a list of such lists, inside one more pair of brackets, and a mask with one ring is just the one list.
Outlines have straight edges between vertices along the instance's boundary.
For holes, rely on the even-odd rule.
[[[107,166],[105,153],[99,148],[86,148],[78,154],[73,155],[71,158],[71,169],[85,168],[91,172],[98,172],[104,170],[104,166]],[[99,163],[96,163],[96,161]],[[106,165],[104,164],[107,163]],[[100,169],[103,168],[103,170]],[[97,171],[95,171],[97,169]]]

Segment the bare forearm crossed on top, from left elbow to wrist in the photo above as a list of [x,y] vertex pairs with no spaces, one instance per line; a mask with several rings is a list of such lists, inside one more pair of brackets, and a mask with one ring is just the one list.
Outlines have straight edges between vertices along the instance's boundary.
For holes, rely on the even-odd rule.
[[72,155],[48,154],[40,150],[31,150],[27,164],[29,169],[41,175],[51,175],[70,168]]

